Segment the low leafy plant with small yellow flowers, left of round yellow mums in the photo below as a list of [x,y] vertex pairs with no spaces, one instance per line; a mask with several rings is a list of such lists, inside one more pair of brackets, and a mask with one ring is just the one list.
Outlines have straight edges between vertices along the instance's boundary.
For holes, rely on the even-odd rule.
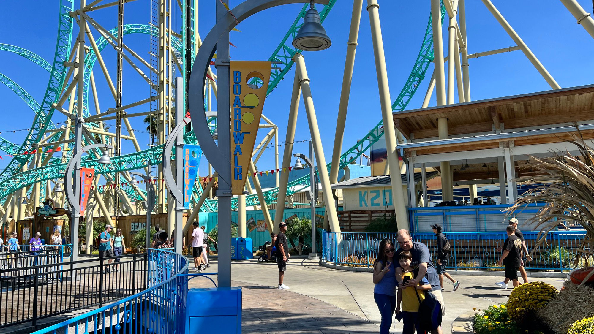
[[520,334],[522,332],[508,316],[505,304],[491,305],[482,312],[479,310],[472,323],[476,334]]

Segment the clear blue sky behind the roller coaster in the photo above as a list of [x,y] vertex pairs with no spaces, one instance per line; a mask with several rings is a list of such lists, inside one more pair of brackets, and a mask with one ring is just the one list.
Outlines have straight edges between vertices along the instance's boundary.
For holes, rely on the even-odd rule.
[[[203,38],[206,37],[214,24],[214,4],[217,1],[200,0],[199,24],[200,34]],[[230,7],[234,7],[239,2],[231,0]],[[378,2],[381,6],[381,28],[390,80],[390,95],[393,101],[402,89],[419,52],[429,17],[429,2],[393,0],[379,0]],[[576,20],[561,2],[545,1],[538,6],[531,2],[502,0],[493,2],[561,87],[592,84],[594,40],[581,26],[576,24]],[[578,2],[586,11],[593,11],[592,2],[589,0],[579,0]],[[4,2],[2,12],[5,15],[0,23],[0,42],[29,49],[51,62],[56,41],[58,4],[59,2],[54,0]],[[181,24],[179,8],[175,1],[173,4],[175,10],[172,21],[174,25],[179,26]],[[29,8],[26,20],[23,20],[23,15],[7,15],[7,13],[22,12],[26,8]],[[300,8],[301,5],[272,8],[253,15],[239,24],[238,29],[242,32],[234,32],[231,35],[232,43],[237,46],[237,48],[231,48],[232,59],[266,60],[289,29]],[[150,21],[149,9],[150,2],[147,0],[137,0],[126,4],[125,23],[147,24]],[[330,160],[332,154],[351,11],[352,1],[337,1],[324,22],[324,27],[333,43],[331,48],[321,52],[304,53],[327,161]],[[507,36],[481,1],[466,1],[466,13],[469,53],[514,45],[511,38]],[[90,16],[108,29],[116,26],[116,7],[91,12]],[[444,25],[444,37],[447,36],[446,28]],[[96,38],[99,36],[97,31],[93,30],[93,33]],[[381,119],[369,16],[365,5],[358,42],[343,147],[355,144],[357,139],[365,136]],[[131,46],[143,58],[149,58],[148,36],[128,35],[125,36],[124,43]],[[444,48],[447,52],[447,43]],[[110,74],[115,79],[115,51],[105,48],[102,55],[110,69]],[[473,100],[550,89],[520,51],[470,59],[469,62]],[[97,70],[99,67],[96,67],[95,77],[100,95],[100,107],[102,110],[113,108],[114,103],[108,86]],[[149,88],[146,83],[132,71],[129,65],[125,65],[124,104],[149,96]],[[432,65],[429,67],[428,75],[431,75],[431,71]],[[31,93],[38,102],[41,102],[48,84],[49,75],[46,71],[20,56],[0,52],[0,72],[12,78]],[[264,114],[279,125],[280,141],[285,141],[293,75],[294,71],[291,70],[287,74],[286,80],[279,84],[264,104]],[[407,109],[421,106],[427,84],[428,80],[421,83],[418,93],[413,97]],[[1,112],[4,117],[0,122],[2,136],[15,143],[22,143],[26,131],[16,133],[11,131],[30,128],[33,122],[33,111],[5,86],[0,86],[0,97],[4,102]],[[435,99],[430,105],[435,105]],[[129,112],[146,111],[146,108],[148,105],[131,109]],[[53,120],[62,122],[65,121],[65,118],[56,115]],[[113,123],[114,121],[108,121],[108,124]],[[132,126],[138,130],[137,137],[141,141],[141,149],[147,148],[149,135],[146,133],[146,125],[141,122],[141,119],[134,119]],[[265,129],[260,130],[259,137],[263,137],[264,134],[266,134]],[[309,138],[305,109],[301,105],[298,133],[295,140]],[[307,154],[307,150],[307,143],[295,144],[295,152]],[[133,148],[129,142],[125,142],[122,151],[130,153],[133,152]],[[279,151],[282,157],[283,147],[279,147]],[[265,153],[257,164],[258,169],[274,168],[273,152],[274,150],[271,149]],[[4,168],[6,161],[0,161],[0,168]],[[201,163],[201,176],[206,174],[206,168],[203,167],[204,161]]]

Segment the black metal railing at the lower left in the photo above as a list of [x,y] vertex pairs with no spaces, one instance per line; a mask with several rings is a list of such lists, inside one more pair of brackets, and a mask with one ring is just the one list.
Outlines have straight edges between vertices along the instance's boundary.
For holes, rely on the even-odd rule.
[[[46,252],[49,258],[52,250]],[[26,322],[37,326],[42,318],[134,295],[147,288],[147,264],[147,254],[129,254],[2,269],[0,327]]]

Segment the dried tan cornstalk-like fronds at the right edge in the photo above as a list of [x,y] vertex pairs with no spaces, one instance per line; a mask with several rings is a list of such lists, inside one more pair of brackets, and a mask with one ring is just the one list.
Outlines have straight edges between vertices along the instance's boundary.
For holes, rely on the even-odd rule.
[[587,259],[594,253],[594,149],[586,144],[577,124],[574,126],[577,134],[567,141],[577,147],[579,156],[569,152],[551,152],[550,157],[530,156],[529,162],[521,169],[532,169],[534,175],[520,177],[516,181],[536,185],[536,188],[508,207],[507,215],[522,210],[526,204],[545,203],[533,218],[526,220],[527,224],[536,224],[534,229],[539,229],[535,250],[546,242],[548,232],[556,230],[560,222],[580,223],[586,229],[586,237],[577,250],[575,267],[580,258]]

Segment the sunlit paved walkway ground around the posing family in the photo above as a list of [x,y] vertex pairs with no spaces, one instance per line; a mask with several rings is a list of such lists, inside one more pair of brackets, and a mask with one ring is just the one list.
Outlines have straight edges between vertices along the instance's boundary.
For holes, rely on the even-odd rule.
[[[216,259],[211,261],[207,272],[216,272]],[[446,286],[445,334],[451,333],[451,323],[456,317],[473,307],[485,308],[507,301],[510,291],[495,286],[495,282],[501,281],[497,277],[451,274],[462,284],[456,292],[451,291],[451,283]],[[276,263],[233,261],[232,279],[245,288],[243,324],[246,333],[379,332],[381,317],[373,299],[371,273],[328,269],[317,260],[293,259],[287,265],[285,276],[290,290],[279,291],[274,289],[278,284]],[[558,289],[563,286],[561,279],[538,281]],[[190,286],[208,286],[198,279],[190,282]],[[285,320],[286,327],[270,326],[281,319]],[[402,323],[394,323],[391,331],[401,333]]]

